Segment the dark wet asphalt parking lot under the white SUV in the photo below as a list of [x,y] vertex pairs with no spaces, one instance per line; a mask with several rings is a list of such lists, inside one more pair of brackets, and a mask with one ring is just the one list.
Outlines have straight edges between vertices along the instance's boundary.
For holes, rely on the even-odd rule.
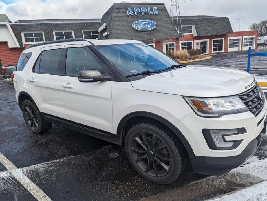
[[153,184],[134,171],[124,147],[57,125],[45,134],[32,134],[12,82],[3,80],[0,122],[0,157],[14,165],[7,171],[0,163],[0,200],[36,200],[29,186],[46,195],[40,200],[204,200],[267,175],[266,165],[257,166],[267,162],[265,136],[255,156],[227,176],[199,175],[188,167],[173,184]]

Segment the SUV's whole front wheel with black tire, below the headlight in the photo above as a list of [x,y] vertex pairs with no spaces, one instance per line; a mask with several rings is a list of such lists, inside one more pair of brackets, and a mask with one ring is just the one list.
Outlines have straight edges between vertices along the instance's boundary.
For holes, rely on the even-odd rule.
[[157,184],[174,182],[185,165],[184,149],[168,134],[160,125],[139,123],[129,129],[125,138],[131,165],[142,177]]

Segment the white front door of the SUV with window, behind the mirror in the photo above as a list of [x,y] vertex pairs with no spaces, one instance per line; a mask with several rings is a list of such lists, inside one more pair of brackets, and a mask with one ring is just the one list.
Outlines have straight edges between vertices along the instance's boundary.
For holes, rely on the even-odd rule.
[[81,44],[65,45],[64,52],[65,64],[59,76],[59,89],[65,118],[112,132],[112,81],[87,83],[78,80],[81,70],[98,70],[103,73],[104,64]]

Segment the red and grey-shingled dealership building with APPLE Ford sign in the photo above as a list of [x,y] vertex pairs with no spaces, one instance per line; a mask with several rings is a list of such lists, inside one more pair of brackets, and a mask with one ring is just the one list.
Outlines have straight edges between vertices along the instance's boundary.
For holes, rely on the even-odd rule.
[[0,15],[0,61],[17,63],[31,44],[58,39],[136,39],[162,52],[199,48],[202,54],[257,48],[257,30],[233,32],[227,17],[170,17],[163,3],[113,4],[101,19],[42,19],[11,22]]

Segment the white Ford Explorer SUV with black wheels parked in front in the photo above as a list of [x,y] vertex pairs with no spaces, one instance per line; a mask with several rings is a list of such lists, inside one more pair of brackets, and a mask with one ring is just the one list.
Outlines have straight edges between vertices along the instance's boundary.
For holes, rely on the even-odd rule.
[[29,129],[52,123],[125,145],[158,184],[190,161],[222,175],[246,161],[266,130],[266,99],[249,73],[180,65],[135,40],[64,39],[28,46],[12,75]]

